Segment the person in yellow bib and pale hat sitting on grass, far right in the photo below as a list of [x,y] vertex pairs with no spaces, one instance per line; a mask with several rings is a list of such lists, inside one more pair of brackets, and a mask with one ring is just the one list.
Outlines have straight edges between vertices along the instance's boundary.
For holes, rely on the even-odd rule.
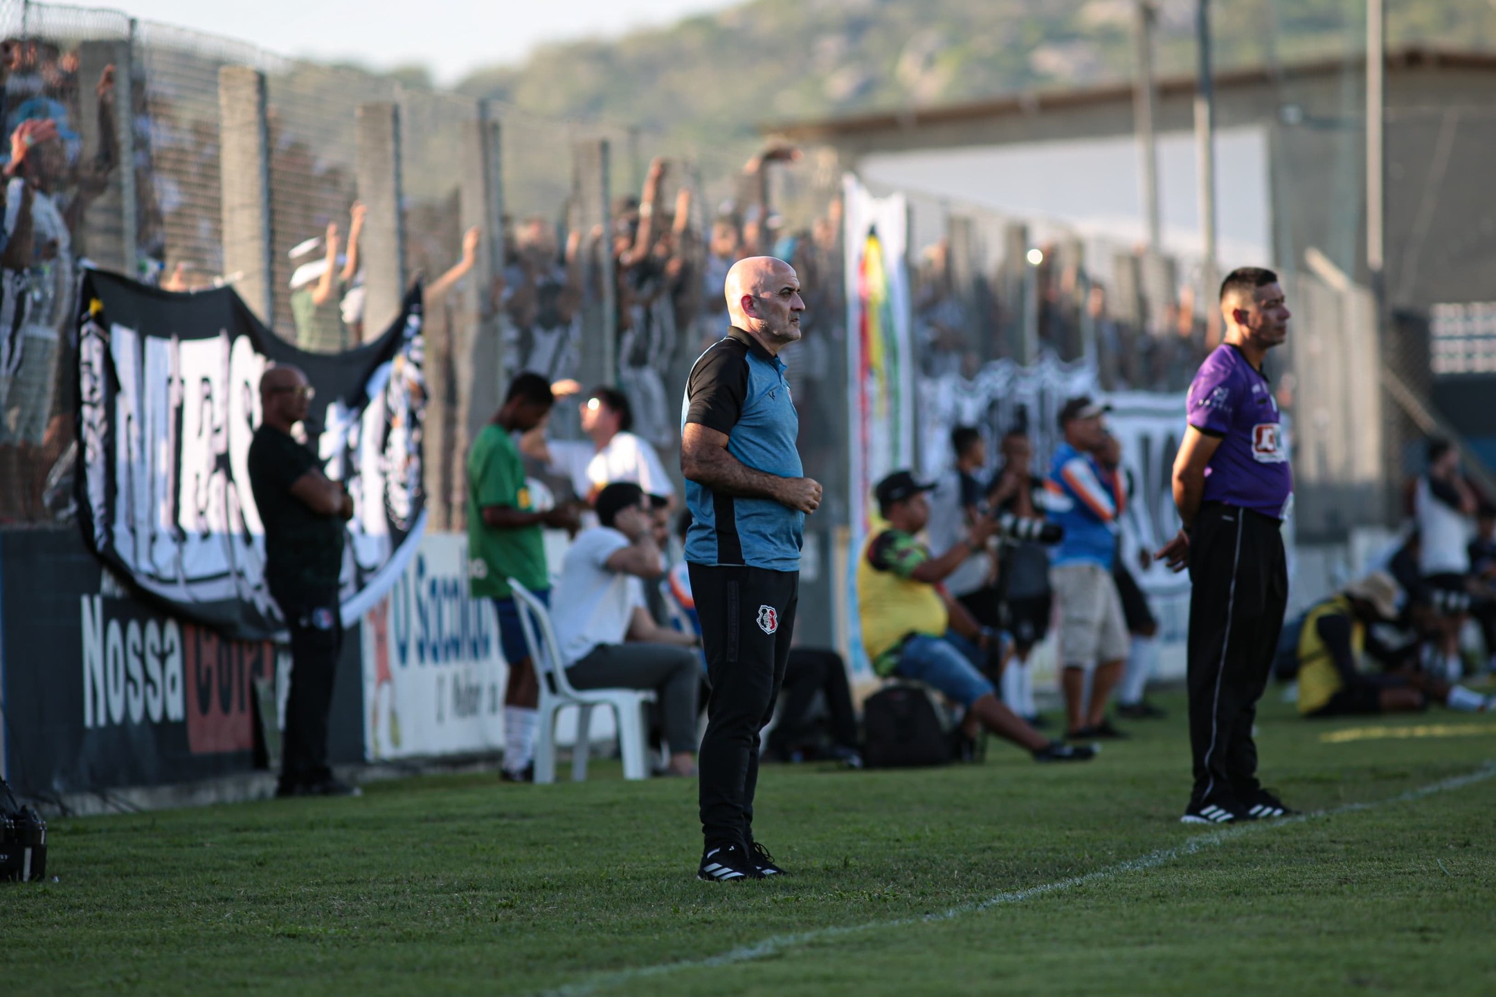
[[1300,714],[1414,713],[1424,710],[1430,701],[1463,713],[1492,708],[1490,698],[1463,686],[1448,686],[1426,672],[1361,672],[1363,656],[1397,663],[1391,648],[1382,647],[1370,627],[1396,620],[1402,590],[1391,575],[1372,572],[1309,611],[1299,636]]

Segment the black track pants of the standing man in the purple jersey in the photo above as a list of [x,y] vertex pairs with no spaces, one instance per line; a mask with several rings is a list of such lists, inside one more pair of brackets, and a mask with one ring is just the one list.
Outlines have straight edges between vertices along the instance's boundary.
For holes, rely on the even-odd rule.
[[1252,722],[1288,608],[1279,521],[1207,503],[1189,539],[1189,747],[1200,802],[1258,787]]

